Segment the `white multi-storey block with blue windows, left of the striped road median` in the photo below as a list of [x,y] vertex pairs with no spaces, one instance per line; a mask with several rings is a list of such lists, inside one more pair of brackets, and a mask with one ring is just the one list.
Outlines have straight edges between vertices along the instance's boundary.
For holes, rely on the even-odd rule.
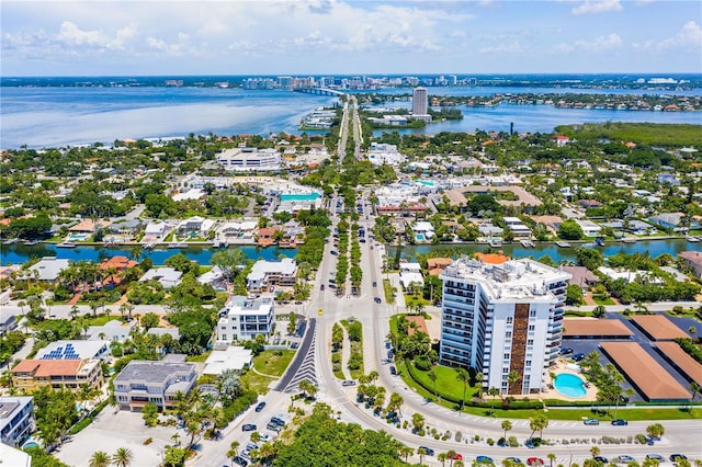
[[247,298],[240,295],[231,300],[219,315],[217,343],[249,341],[258,334],[270,339],[275,322],[273,298]]

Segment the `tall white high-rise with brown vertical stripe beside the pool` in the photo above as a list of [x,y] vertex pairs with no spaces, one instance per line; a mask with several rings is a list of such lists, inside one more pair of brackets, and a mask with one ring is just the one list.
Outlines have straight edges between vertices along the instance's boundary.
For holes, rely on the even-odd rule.
[[539,392],[561,351],[570,274],[528,259],[462,258],[440,278],[440,360],[483,373],[484,388]]

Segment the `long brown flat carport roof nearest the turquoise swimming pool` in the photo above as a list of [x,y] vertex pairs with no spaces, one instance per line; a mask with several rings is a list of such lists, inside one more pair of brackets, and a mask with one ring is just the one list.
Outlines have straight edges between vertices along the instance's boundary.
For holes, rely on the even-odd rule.
[[602,342],[600,348],[647,400],[690,399],[690,392],[636,342]]

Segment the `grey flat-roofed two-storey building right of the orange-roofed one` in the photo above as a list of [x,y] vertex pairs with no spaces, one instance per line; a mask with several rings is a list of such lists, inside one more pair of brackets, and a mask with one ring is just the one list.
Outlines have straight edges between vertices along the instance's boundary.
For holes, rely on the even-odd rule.
[[148,402],[159,410],[173,406],[178,392],[188,395],[195,386],[194,363],[133,360],[114,379],[120,410],[140,411]]

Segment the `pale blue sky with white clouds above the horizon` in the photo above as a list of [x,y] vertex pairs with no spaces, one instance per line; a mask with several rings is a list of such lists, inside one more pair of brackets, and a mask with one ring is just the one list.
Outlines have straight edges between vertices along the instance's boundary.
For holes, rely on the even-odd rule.
[[702,72],[699,1],[2,0],[2,76]]

